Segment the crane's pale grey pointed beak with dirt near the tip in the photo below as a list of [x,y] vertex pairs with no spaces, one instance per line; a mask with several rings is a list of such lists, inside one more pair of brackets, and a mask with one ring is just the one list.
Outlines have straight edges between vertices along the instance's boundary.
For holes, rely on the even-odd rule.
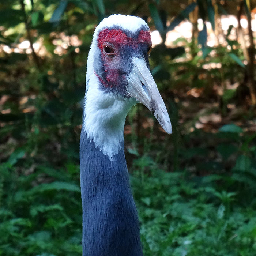
[[170,117],[157,85],[142,58],[133,58],[133,68],[127,76],[127,93],[143,103],[167,133],[172,133]]

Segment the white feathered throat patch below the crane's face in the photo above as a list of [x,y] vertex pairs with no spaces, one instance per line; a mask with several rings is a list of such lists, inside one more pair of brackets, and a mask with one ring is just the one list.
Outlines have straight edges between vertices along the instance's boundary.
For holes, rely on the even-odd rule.
[[83,129],[87,138],[111,159],[121,149],[125,117],[136,102],[106,93],[100,87],[97,76],[91,74],[85,95]]

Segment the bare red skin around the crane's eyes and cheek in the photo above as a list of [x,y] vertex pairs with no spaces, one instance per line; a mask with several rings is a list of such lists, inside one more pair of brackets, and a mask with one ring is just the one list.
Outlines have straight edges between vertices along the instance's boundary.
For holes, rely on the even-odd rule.
[[[109,57],[108,54],[103,52],[104,43],[109,43],[114,50],[114,57]],[[121,29],[103,29],[98,35],[98,48],[101,50],[102,60],[105,66],[106,81],[99,75],[100,82],[105,87],[113,87],[120,82],[120,79],[125,79],[125,75],[120,74],[117,69],[118,61],[120,61],[120,46],[131,46],[132,48],[138,48],[138,45],[144,44],[147,47],[152,46],[151,37],[149,31],[141,30],[137,38],[128,37]]]

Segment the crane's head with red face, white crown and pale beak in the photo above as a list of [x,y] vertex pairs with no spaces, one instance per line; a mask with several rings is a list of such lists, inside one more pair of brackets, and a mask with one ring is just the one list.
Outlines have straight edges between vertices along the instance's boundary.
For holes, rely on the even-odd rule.
[[151,48],[149,27],[144,20],[111,15],[95,29],[87,75],[94,73],[101,90],[111,97],[143,103],[162,128],[172,133],[165,104],[150,73],[148,57]]

